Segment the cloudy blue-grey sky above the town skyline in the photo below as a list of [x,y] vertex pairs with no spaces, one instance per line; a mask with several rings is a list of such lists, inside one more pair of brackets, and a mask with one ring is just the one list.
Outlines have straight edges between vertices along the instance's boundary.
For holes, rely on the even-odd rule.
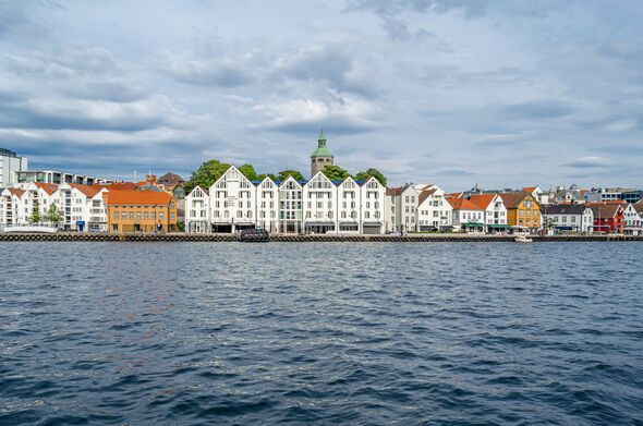
[[0,147],[189,178],[335,162],[447,191],[642,187],[643,2],[0,0]]

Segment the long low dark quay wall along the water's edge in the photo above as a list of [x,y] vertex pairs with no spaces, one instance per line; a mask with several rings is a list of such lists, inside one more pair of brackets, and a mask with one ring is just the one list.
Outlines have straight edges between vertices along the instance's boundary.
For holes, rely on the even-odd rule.
[[[531,236],[534,242],[587,242],[609,241],[628,242],[643,241],[643,235],[547,235]],[[3,241],[69,241],[69,242],[223,242],[236,241],[233,234],[142,234],[142,233],[77,233],[59,232],[50,233],[0,233],[0,242]],[[437,242],[513,242],[513,236],[507,235],[469,235],[469,234],[415,234],[415,235],[296,235],[275,234],[271,242],[404,242],[404,243],[437,243]]]

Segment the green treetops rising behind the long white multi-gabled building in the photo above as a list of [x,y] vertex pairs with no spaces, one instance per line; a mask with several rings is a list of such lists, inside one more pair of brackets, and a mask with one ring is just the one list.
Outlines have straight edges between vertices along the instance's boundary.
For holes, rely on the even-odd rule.
[[[192,172],[190,181],[187,181],[185,184],[185,192],[192,192],[195,186],[209,188],[213,183],[221,178],[231,166],[232,165],[221,162],[219,160],[205,161],[196,171]],[[257,173],[253,165],[247,162],[245,165],[239,166],[238,169],[246,179],[251,181],[263,181],[266,178],[270,178],[274,181],[284,181],[289,177],[293,177],[298,181],[304,180],[304,175],[298,170],[286,169],[281,170],[279,173]],[[349,177],[353,177],[355,180],[366,180],[373,177],[385,186],[387,182],[386,177],[379,170],[373,168],[352,175],[345,169],[342,169],[339,166],[327,166],[323,170],[323,173],[331,181],[343,181]]]

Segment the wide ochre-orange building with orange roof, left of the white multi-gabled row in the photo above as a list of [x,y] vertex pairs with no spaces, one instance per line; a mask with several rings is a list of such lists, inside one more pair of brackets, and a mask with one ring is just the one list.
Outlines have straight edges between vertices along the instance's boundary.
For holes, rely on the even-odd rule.
[[174,232],[177,200],[155,191],[109,191],[104,195],[110,232]]

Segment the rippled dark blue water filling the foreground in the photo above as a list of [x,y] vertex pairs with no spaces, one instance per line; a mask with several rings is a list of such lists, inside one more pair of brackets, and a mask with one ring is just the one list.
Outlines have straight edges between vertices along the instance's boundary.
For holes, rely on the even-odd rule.
[[0,243],[0,424],[642,424],[643,244]]

